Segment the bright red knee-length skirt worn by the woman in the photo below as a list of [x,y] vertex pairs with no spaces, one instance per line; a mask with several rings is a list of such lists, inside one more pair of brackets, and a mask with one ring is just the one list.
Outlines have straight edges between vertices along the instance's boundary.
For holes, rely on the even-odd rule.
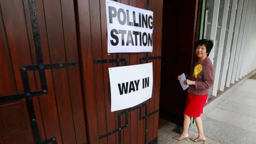
[[187,96],[187,107],[184,110],[184,114],[190,117],[199,117],[203,114],[203,108],[206,103],[208,94],[195,95],[188,93]]

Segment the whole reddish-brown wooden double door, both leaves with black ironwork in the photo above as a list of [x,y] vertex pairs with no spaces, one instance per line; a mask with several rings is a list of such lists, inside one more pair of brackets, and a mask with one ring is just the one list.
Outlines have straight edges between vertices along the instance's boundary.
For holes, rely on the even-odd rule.
[[[153,53],[107,53],[105,0],[0,0],[1,144],[157,142],[163,1],[121,3],[154,12]],[[111,113],[118,63],[95,61],[142,57],[153,62],[152,98]]]

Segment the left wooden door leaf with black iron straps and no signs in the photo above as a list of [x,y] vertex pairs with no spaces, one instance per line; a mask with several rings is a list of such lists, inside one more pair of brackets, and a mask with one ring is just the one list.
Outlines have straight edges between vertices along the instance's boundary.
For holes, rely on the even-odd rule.
[[87,143],[74,1],[0,4],[0,143]]

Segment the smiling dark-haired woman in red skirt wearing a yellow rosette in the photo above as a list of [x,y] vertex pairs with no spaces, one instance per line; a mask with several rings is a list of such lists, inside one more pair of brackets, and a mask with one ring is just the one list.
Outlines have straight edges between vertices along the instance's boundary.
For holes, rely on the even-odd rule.
[[213,65],[210,58],[208,58],[212,47],[213,42],[207,39],[201,39],[195,45],[198,62],[195,63],[193,73],[184,82],[186,85],[189,85],[189,88],[187,106],[184,111],[183,132],[179,137],[174,137],[174,139],[183,140],[189,137],[188,128],[190,117],[194,117],[198,129],[198,137],[196,139],[190,139],[194,142],[206,140],[203,133],[201,114],[203,114],[203,107],[206,103],[209,89],[213,85]]

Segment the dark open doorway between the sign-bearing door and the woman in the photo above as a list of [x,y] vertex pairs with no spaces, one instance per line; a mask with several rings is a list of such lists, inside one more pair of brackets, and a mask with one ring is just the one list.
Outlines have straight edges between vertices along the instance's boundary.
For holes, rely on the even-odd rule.
[[159,128],[166,121],[183,125],[187,91],[182,90],[177,77],[182,73],[189,74],[193,65],[200,7],[201,1],[196,0],[163,1]]

